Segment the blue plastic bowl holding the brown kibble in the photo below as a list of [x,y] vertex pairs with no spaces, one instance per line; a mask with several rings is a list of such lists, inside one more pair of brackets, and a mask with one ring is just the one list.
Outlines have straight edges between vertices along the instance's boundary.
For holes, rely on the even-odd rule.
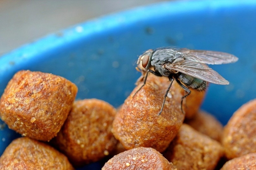
[[[230,85],[211,84],[202,108],[223,124],[256,96],[256,1],[171,1],[75,25],[0,57],[0,95],[19,70],[49,72],[78,86],[77,99],[119,106],[140,76],[139,54],[177,46],[228,52],[235,64],[210,65]],[[4,125],[0,121],[1,126]],[[17,135],[0,130],[0,155]]]

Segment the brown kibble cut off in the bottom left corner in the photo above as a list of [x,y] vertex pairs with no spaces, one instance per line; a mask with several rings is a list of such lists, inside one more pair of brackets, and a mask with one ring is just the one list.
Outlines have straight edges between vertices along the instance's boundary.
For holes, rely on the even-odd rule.
[[0,157],[0,169],[74,169],[51,146],[27,137],[13,140]]

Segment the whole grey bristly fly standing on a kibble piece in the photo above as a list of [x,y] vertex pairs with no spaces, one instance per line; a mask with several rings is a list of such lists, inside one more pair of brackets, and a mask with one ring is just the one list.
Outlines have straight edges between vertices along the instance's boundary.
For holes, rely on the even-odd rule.
[[149,72],[155,76],[166,76],[169,78],[170,84],[164,95],[162,108],[158,115],[162,113],[165,99],[174,80],[187,93],[181,99],[182,110],[183,99],[191,93],[189,88],[202,91],[205,90],[207,82],[220,85],[229,84],[226,79],[206,64],[227,64],[234,63],[237,60],[238,58],[232,54],[217,51],[171,47],[149,49],[141,54],[137,60],[136,69],[142,72],[144,79],[143,85],[137,92],[146,84]]

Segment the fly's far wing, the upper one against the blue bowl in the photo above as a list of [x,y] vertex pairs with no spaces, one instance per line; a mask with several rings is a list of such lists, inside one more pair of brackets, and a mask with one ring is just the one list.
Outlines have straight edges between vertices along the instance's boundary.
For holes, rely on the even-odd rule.
[[205,64],[227,64],[238,60],[235,55],[218,51],[190,50],[187,48],[181,48],[178,51],[183,53],[184,59]]

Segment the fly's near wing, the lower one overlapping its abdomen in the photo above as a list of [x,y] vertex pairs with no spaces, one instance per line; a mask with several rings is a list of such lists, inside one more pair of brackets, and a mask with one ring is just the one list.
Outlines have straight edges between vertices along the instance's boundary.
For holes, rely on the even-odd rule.
[[229,82],[224,79],[219,73],[209,68],[207,65],[194,62],[188,59],[177,59],[173,63],[163,65],[166,69],[179,71],[186,75],[211,82],[214,84],[226,85]]

